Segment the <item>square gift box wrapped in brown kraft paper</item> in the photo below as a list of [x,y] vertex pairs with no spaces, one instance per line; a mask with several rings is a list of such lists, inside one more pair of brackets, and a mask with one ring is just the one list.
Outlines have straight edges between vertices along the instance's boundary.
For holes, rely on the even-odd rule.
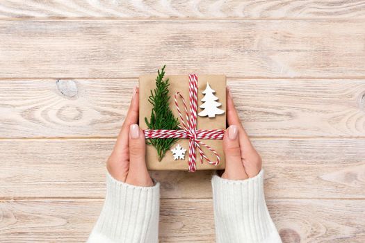
[[[139,78],[139,125],[140,128],[142,128],[144,131],[147,131],[149,129],[149,127],[147,126],[147,122],[149,122],[151,119],[152,108],[154,107],[149,101],[149,97],[153,94],[153,91],[156,88],[156,76],[157,74],[148,74],[140,76]],[[197,102],[195,116],[193,115],[194,111],[192,111],[190,107],[192,101],[190,99],[191,97],[189,97],[189,95],[192,95],[192,93],[190,92],[192,92],[191,87],[192,85],[194,85],[194,83],[192,83],[192,77],[195,77],[197,79],[197,82],[195,82],[195,85],[197,85],[197,97],[193,97],[193,100],[195,99],[195,102]],[[176,138],[177,141],[170,146],[170,149],[166,151],[161,160],[159,160],[156,148],[152,144],[148,144],[149,140],[147,139],[147,168],[152,170],[189,171],[195,171],[195,169],[224,169],[225,156],[222,147],[222,133],[224,133],[224,129],[226,128],[225,75],[166,75],[163,79],[165,80],[167,78],[169,83],[168,95],[170,96],[170,99],[169,102],[165,104],[165,106],[169,106],[172,114],[175,116],[176,119],[178,119],[180,128],[177,129],[189,130],[188,127],[184,127],[184,122],[181,120],[181,117],[185,119],[186,126],[188,126],[189,124],[186,122],[187,116],[189,117],[189,119],[195,119],[196,117],[196,129],[199,133],[197,134],[197,137],[202,137],[202,134],[205,135],[204,131],[208,131],[207,133],[211,133],[211,137],[209,137],[209,139],[205,139],[206,137],[203,139],[197,138],[198,141],[195,141],[193,139],[194,136],[192,135],[192,133],[195,133],[195,131],[190,131],[191,133],[188,132],[190,134],[190,138]],[[179,94],[175,96],[177,92],[179,92]],[[186,101],[188,114],[186,114],[184,102],[182,101],[181,97],[183,97],[183,99]],[[179,105],[180,113],[178,108],[176,107],[176,102]],[[165,119],[165,117],[160,117],[159,119]],[[152,134],[152,131],[150,131],[150,133],[145,132],[145,135]],[[211,131],[218,131],[218,133],[220,132],[219,137],[216,133]],[[173,132],[174,131],[171,131],[171,133]],[[178,132],[179,131],[177,131],[177,133]],[[166,133],[166,131],[163,131],[163,133]],[[192,144],[190,145],[190,143]],[[191,146],[190,148],[189,145]],[[194,156],[196,165],[195,169],[192,169],[191,165],[189,166],[189,163],[192,162],[189,161],[189,149],[193,149],[196,153]],[[184,150],[186,152],[185,154],[182,154]],[[206,156],[208,160],[204,160],[203,156],[203,162],[201,162],[201,151],[204,153],[204,156]],[[218,164],[215,163],[217,162],[217,158],[219,158]],[[193,158],[190,158],[190,160],[193,160]]]

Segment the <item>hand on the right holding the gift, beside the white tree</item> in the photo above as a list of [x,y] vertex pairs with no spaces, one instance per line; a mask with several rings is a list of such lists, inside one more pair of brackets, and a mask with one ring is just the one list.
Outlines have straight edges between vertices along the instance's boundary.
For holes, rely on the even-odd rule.
[[225,172],[222,178],[244,180],[257,176],[261,171],[261,157],[252,146],[238,117],[231,92],[227,88],[227,123],[223,138]]

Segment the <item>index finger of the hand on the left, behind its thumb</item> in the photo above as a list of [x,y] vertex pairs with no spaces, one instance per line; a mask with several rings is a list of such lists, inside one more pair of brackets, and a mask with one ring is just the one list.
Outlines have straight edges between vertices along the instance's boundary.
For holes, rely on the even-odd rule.
[[[138,123],[138,110],[139,110],[139,90],[138,87],[135,86],[133,90],[133,95],[131,99],[131,104],[129,105],[129,109],[127,112],[127,116],[124,119],[122,128],[120,129],[120,133],[117,137],[117,142],[115,142],[113,152],[119,156],[127,157],[128,159],[128,139],[129,139],[129,126],[131,124]],[[127,153],[127,154],[126,154]]]

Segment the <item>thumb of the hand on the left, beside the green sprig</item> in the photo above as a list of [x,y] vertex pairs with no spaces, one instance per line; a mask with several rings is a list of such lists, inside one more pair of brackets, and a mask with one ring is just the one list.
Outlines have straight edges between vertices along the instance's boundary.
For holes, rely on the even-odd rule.
[[143,131],[137,124],[129,126],[129,172],[126,183],[138,186],[152,186],[152,179],[146,167],[146,144]]

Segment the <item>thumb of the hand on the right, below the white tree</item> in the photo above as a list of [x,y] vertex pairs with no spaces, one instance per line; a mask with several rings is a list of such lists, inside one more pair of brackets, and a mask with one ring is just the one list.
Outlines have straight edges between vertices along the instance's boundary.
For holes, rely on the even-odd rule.
[[231,125],[225,131],[223,151],[225,152],[225,173],[222,174],[222,178],[229,180],[243,180],[248,178],[241,158],[238,126]]

